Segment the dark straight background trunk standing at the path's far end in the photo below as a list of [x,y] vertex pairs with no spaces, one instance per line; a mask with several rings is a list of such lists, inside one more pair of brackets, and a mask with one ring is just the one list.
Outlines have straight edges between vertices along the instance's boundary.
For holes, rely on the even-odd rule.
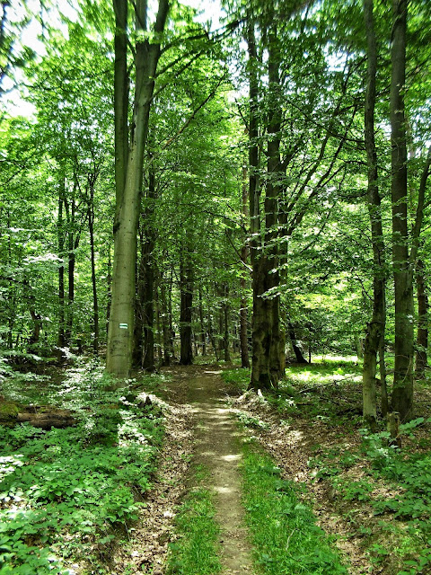
[[193,363],[191,321],[193,310],[193,268],[185,250],[180,259],[180,364]]

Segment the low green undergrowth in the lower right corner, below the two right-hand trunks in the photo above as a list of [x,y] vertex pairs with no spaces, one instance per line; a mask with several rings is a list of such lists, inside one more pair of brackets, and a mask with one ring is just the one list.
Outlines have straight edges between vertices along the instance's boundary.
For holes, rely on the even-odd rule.
[[315,480],[332,485],[370,562],[385,573],[431,572],[431,454],[414,437],[429,422],[418,418],[400,426],[401,441],[409,438],[407,452],[390,445],[387,431],[360,429],[359,449],[330,447],[309,461]]

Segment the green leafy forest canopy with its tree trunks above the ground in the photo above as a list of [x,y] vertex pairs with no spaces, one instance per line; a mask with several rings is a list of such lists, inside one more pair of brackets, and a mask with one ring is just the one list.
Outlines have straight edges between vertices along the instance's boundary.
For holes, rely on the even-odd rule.
[[411,418],[427,2],[36,4],[2,4],[4,376],[241,353],[268,389],[286,357],[356,353],[365,417]]

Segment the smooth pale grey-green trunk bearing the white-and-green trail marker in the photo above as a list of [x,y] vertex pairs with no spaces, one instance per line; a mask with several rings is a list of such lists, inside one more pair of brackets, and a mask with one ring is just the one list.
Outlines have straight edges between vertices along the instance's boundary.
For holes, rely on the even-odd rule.
[[[121,13],[125,12],[125,3],[127,0],[114,0],[116,13],[119,10]],[[169,1],[159,0],[154,24],[154,43],[151,43],[146,34],[146,2],[144,0],[136,2],[136,92],[133,130],[128,150],[128,167],[124,187],[122,192],[117,194],[119,203],[116,208],[114,223],[112,300],[106,358],[107,370],[117,377],[128,377],[132,364],[136,296],[136,234],[140,211],[142,173],[148,137],[148,119],[154,93],[154,77],[161,53],[160,39],[168,9]],[[124,24],[124,20],[122,24]],[[117,29],[116,33],[118,33]],[[116,98],[115,111],[118,114],[119,110],[122,110],[118,101],[119,94],[114,93],[114,98]],[[123,118],[122,122],[120,120],[116,122],[116,133],[119,130],[119,124],[124,127],[126,118]],[[120,142],[120,137],[118,141]],[[116,185],[120,190],[121,186],[117,182]]]

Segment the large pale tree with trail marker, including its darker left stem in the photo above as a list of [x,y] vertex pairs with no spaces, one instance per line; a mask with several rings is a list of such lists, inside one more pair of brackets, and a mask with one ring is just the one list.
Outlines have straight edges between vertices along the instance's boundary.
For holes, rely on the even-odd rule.
[[116,17],[114,80],[116,217],[114,222],[114,263],[108,330],[107,370],[128,377],[132,365],[136,286],[136,234],[148,137],[148,120],[154,93],[154,77],[161,54],[168,0],[160,0],[154,35],[148,35],[145,0],[135,4],[135,94],[130,143],[128,136],[128,0],[114,0]]

